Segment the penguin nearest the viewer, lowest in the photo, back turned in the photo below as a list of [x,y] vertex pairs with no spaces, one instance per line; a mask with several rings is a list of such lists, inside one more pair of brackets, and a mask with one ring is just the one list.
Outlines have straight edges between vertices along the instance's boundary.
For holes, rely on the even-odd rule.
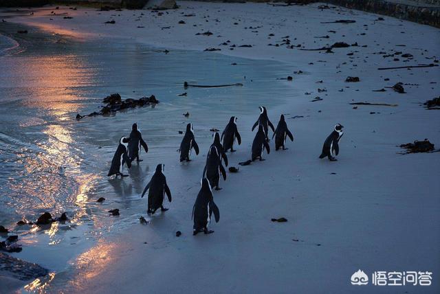
[[214,212],[215,222],[218,223],[220,220],[219,207],[214,203],[208,179],[201,179],[200,185],[199,194],[197,194],[197,199],[192,207],[191,218],[194,220],[192,236],[197,235],[201,231],[205,234],[214,233],[214,231],[208,230],[208,223],[210,222],[212,212]]

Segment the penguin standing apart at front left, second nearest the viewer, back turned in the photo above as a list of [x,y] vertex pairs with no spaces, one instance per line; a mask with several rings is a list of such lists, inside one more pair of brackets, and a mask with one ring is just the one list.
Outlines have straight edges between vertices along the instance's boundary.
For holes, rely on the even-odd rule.
[[168,208],[164,207],[164,194],[168,196],[168,201],[171,202],[171,192],[170,188],[166,184],[166,177],[164,175],[165,165],[157,164],[156,172],[151,177],[151,180],[148,184],[146,184],[144,192],[142,192],[141,198],[144,197],[146,190],[150,190],[148,192],[148,210],[146,213],[154,214],[157,209],[162,210],[162,212],[166,212]]

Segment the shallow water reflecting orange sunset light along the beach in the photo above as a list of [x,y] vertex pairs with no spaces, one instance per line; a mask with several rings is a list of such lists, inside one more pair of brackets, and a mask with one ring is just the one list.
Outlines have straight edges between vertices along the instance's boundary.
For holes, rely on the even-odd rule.
[[[165,54],[125,39],[86,41],[35,30],[0,38],[0,224],[20,235],[23,251],[15,256],[56,272],[100,236],[137,223],[145,210],[139,196],[157,163],[169,163],[168,174],[181,170],[178,131],[188,122],[199,145],[208,144],[210,128],[223,130],[231,115],[256,118],[260,104],[297,95],[288,82],[276,80],[292,67],[272,61],[212,52]],[[243,87],[184,89],[184,81]],[[184,92],[186,97],[178,96]],[[160,103],[74,119],[76,113],[98,111],[111,93],[123,99],[154,94]],[[188,118],[182,115],[187,111]],[[141,153],[145,161],[133,164],[129,178],[109,179],[113,152],[133,122],[149,152]],[[96,203],[101,196],[104,206]],[[124,213],[109,216],[107,210],[116,207]],[[47,228],[14,225],[46,211],[67,212],[71,220]]]

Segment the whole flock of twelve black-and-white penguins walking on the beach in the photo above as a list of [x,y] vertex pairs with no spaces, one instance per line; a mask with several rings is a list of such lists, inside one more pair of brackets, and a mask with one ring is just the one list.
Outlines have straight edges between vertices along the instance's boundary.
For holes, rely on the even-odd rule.
[[[287,128],[287,123],[285,122],[284,115],[281,115],[280,121],[276,128],[272,122],[270,122],[267,116],[267,110],[264,106],[260,106],[261,114],[259,119],[252,126],[252,131],[258,126],[258,131],[252,142],[252,157],[250,160],[239,163],[242,166],[250,164],[252,161],[259,159],[263,161],[262,155],[263,151],[266,150],[267,154],[270,153],[269,137],[268,131],[269,127],[272,128],[275,137],[275,150],[279,148],[285,148],[285,141],[287,137],[294,141],[294,136],[290,133]],[[336,124],[333,132],[327,137],[322,146],[322,153],[320,159],[328,157],[330,161],[336,161],[337,159],[333,157],[339,153],[339,141],[344,134],[342,131],[343,126],[341,124]],[[221,143],[223,141],[223,144]],[[224,161],[225,166],[228,166],[228,157],[225,152],[230,150],[234,152],[234,143],[237,142],[241,144],[241,136],[236,126],[236,117],[232,116],[225,130],[219,135],[219,133],[214,133],[214,142],[209,148],[208,156],[206,158],[206,165],[203,169],[203,176],[201,179],[201,188],[194,206],[192,207],[192,219],[194,220],[193,235],[198,234],[203,231],[204,234],[210,234],[214,231],[208,229],[208,223],[210,222],[212,214],[214,214],[215,221],[218,222],[220,218],[219,208],[214,203],[214,198],[212,196],[212,188],[215,190],[221,190],[219,188],[220,176],[226,179],[225,168],[223,167],[222,161]],[[142,161],[139,157],[140,149],[144,148],[145,152],[148,152],[148,146],[144,139],[142,139],[142,133],[137,127],[137,124],[133,124],[131,133],[129,137],[121,137],[119,146],[115,151],[113,160],[111,161],[111,167],[108,176],[115,175],[115,177],[128,177],[127,174],[122,174],[122,168],[124,163],[128,168],[131,168],[131,162],[136,159],[137,162]],[[194,131],[192,124],[186,126],[186,133],[181,141],[180,148],[177,150],[180,152],[180,161],[190,161],[191,150],[194,149],[196,155],[199,154],[199,146],[195,141]],[[171,192],[170,188],[166,184],[166,177],[164,175],[164,164],[158,164],[156,171],[151,177],[142,192],[142,197],[148,191],[148,214],[154,214],[159,208],[162,212],[168,210],[165,208],[164,195],[168,197],[168,201],[171,202]]]

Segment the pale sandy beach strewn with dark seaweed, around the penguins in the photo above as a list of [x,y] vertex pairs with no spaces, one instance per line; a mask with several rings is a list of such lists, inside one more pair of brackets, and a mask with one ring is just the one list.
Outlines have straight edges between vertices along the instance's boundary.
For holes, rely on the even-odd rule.
[[[152,139],[147,141],[151,152],[144,154],[140,163],[149,170],[137,178],[137,185],[142,190],[155,166],[164,163],[173,194],[173,202],[165,203],[170,210],[157,212],[148,218],[148,225],[141,225],[137,219],[141,215],[147,218],[146,199],[140,199],[139,188],[135,188],[137,192],[130,194],[133,216],[122,226],[110,225],[108,231],[115,234],[100,233],[96,244],[69,259],[65,271],[56,270],[50,279],[41,279],[23,291],[439,293],[440,153],[401,155],[404,150],[399,145],[427,138],[439,148],[439,113],[427,110],[423,102],[439,95],[440,67],[378,68],[439,65],[440,30],[333,5],[320,9],[323,3],[289,7],[195,1],[178,4],[177,10],[160,12],[67,7],[36,8],[32,15],[28,10],[0,11],[0,19],[8,16],[8,23],[28,25],[78,42],[126,40],[160,51],[166,49],[169,56],[180,54],[179,58],[185,57],[179,53],[181,50],[202,54],[209,48],[220,49],[213,54],[245,58],[236,65],[221,59],[218,67],[232,71],[232,82],[240,78],[244,89],[264,83],[261,93],[265,95],[254,93],[257,102],[252,105],[248,96],[245,102],[239,100],[237,89],[222,90],[222,99],[216,100],[219,92],[184,89],[182,84],[181,93],[188,92],[185,99],[192,99],[192,93],[207,98],[195,100],[191,108],[185,109],[168,101],[157,106],[174,107],[179,115],[176,122],[170,123],[168,141],[166,145],[161,142],[166,146],[161,150],[154,148],[161,134],[148,125],[149,114],[138,111],[142,134],[147,138],[151,134]],[[115,23],[105,23],[111,20]],[[334,23],[338,20],[355,23]],[[349,46],[332,47],[339,42]],[[331,53],[327,49],[309,50],[322,47],[332,47]],[[244,67],[254,63],[254,67]],[[253,71],[262,68],[257,63],[267,67],[273,64],[272,74],[276,74],[266,77]],[[194,70],[189,66],[188,69]],[[216,70],[212,70],[212,76],[208,73],[198,80],[191,80],[192,73],[188,71],[186,77],[176,77],[175,83],[180,85],[188,79],[212,84]],[[292,76],[292,81],[278,80],[287,76]],[[348,77],[358,77],[360,81],[346,82]],[[393,91],[397,82],[403,83],[406,93]],[[155,84],[167,87],[159,80]],[[152,85],[151,91],[154,89]],[[380,89],[384,91],[377,91]],[[276,97],[276,93],[285,97]],[[391,106],[351,104],[356,102]],[[92,102],[95,109],[98,104]],[[271,141],[271,152],[265,155],[265,161],[239,167],[240,161],[250,159],[256,133],[251,128],[261,104],[267,107],[275,126],[280,115],[285,115],[294,142],[287,141],[288,150],[275,151]],[[192,236],[191,211],[212,141],[209,129],[223,131],[229,117],[235,115],[234,108],[249,109],[237,122],[242,144],[236,146],[237,152],[228,153],[229,166],[239,167],[239,172],[228,172],[228,179],[220,182],[223,190],[214,192],[221,214],[219,223],[210,224],[214,234]],[[89,109],[91,106],[74,111]],[[188,120],[181,115],[186,111],[191,113]],[[67,117],[73,113],[68,114]],[[96,119],[98,129],[120,123],[123,116],[124,113],[91,120]],[[175,152],[181,140],[177,128],[187,122],[196,126],[201,154],[192,155],[193,161],[182,164]],[[322,144],[337,123],[344,125],[338,161],[320,160]],[[87,131],[89,126],[78,128]],[[121,128],[115,126],[118,131]],[[115,132],[113,138],[120,135],[125,134]],[[115,143],[91,144],[96,148],[90,152],[96,153],[100,152],[98,146],[104,146],[103,153],[92,159],[96,162],[90,163],[102,177]],[[107,166],[101,166],[102,161]],[[131,183],[131,179],[122,181],[121,185]],[[108,199],[118,197],[111,206],[104,203],[95,207],[96,199],[91,198],[81,204],[85,210],[90,205],[104,213],[120,208],[123,215],[123,192],[124,188],[115,194],[94,194]],[[281,217],[287,218],[287,223],[271,221]],[[176,231],[181,231],[181,236],[176,237]],[[20,254],[15,256],[21,258]],[[432,284],[353,286],[350,278],[358,269],[370,278],[375,271],[430,271]]]

